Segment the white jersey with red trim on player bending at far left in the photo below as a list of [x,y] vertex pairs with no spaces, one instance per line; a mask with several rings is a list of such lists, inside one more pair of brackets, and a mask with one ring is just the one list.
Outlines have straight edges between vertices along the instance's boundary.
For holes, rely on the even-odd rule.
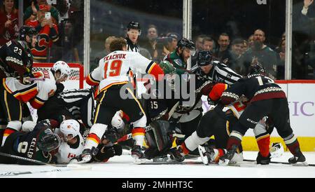
[[51,71],[43,71],[45,81],[34,81],[30,85],[20,83],[17,78],[3,78],[3,87],[21,102],[29,102],[35,109],[43,106],[55,94],[56,81]]

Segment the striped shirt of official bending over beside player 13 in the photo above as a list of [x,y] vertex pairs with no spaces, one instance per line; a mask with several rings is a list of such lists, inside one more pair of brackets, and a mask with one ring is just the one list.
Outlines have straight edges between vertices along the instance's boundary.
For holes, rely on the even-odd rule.
[[227,83],[228,85],[232,85],[237,82],[239,78],[242,78],[241,75],[237,74],[222,62],[214,60],[212,61],[212,64],[213,67],[209,71],[209,74],[204,74],[202,69],[200,69],[197,65],[195,65],[195,67],[193,67],[190,71],[195,74],[199,74],[214,83]]

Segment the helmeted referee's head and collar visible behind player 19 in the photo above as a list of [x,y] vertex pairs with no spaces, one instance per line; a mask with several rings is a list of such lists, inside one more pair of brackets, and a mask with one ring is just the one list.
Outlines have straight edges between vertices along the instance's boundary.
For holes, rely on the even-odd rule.
[[137,44],[138,38],[141,35],[141,27],[139,22],[131,21],[127,25],[127,51],[140,53],[139,46]]

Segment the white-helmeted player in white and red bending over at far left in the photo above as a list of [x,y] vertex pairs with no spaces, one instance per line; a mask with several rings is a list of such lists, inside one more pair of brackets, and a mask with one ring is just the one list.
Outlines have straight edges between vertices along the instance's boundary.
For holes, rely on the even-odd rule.
[[[29,81],[30,78],[27,78],[27,82],[21,83],[14,77],[3,79],[3,88],[9,93],[6,94],[5,92],[4,95],[7,110],[16,111],[15,116],[19,118],[19,121],[13,122],[13,125],[8,124],[3,134],[2,145],[8,135],[15,131],[20,131],[22,128],[21,103],[29,102],[34,109],[41,108],[45,101],[55,94],[57,89],[56,83],[65,81],[69,74],[70,69],[68,64],[65,62],[56,62],[51,71],[38,71],[32,74],[32,76],[36,76],[37,78],[43,78],[40,81]],[[8,95],[12,95],[13,97],[8,97]],[[10,98],[10,100],[6,99],[6,97]]]

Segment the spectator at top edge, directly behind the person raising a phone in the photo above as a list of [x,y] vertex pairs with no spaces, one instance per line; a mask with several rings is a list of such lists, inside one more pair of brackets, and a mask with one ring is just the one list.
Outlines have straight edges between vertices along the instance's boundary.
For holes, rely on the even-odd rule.
[[29,6],[24,13],[24,23],[27,24],[31,20],[36,20],[37,12],[39,10],[48,10],[51,13],[52,23],[58,25],[59,23],[59,11],[54,6],[50,6],[47,3],[47,0],[36,0],[37,4],[34,4],[34,1],[31,2],[31,6]]

